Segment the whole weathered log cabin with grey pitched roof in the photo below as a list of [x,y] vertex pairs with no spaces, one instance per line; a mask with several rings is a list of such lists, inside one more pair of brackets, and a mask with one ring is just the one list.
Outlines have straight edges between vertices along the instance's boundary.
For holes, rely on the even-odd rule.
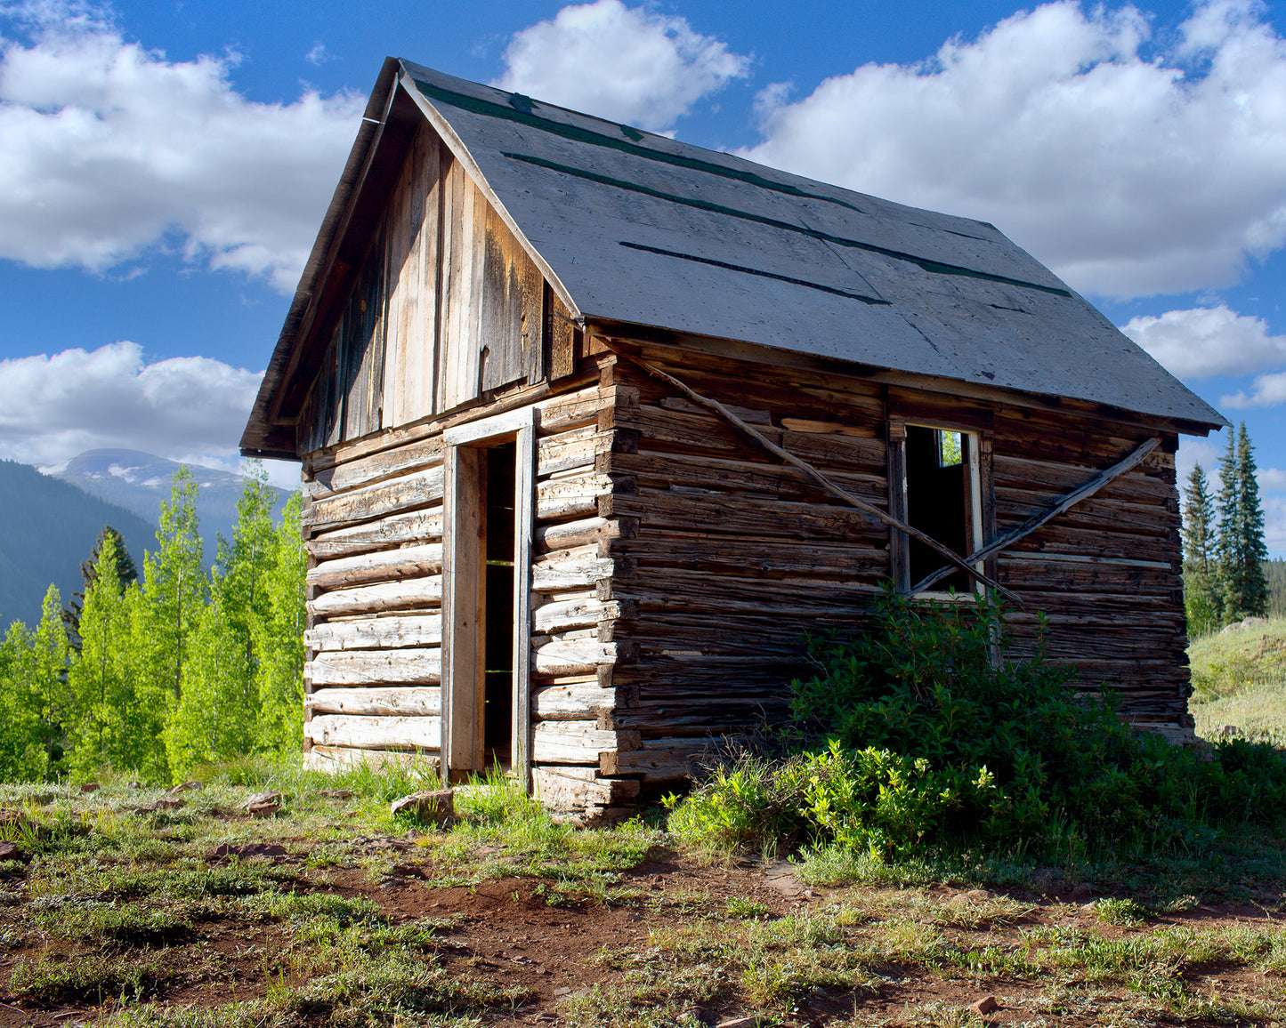
[[890,576],[1191,736],[1174,452],[1223,424],[992,225],[390,59],[242,452],[302,461],[309,759],[594,813]]

